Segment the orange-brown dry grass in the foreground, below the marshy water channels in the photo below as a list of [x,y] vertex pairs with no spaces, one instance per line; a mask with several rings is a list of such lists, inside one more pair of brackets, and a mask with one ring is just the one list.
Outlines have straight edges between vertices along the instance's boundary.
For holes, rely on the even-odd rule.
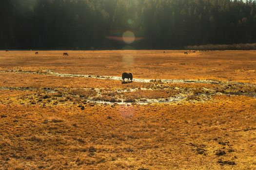
[[[7,116],[1,118],[0,165],[3,169],[254,169],[256,108],[251,103],[255,102],[220,95],[197,104],[95,105],[85,110],[72,104],[0,105]],[[225,154],[216,155],[219,150]]]

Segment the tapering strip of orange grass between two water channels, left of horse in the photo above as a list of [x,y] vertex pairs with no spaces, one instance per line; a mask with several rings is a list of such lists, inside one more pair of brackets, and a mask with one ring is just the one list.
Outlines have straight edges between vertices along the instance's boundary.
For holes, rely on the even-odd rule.
[[114,80],[0,72],[0,86],[39,88],[138,88],[150,87],[151,84],[139,82],[121,84],[121,81]]

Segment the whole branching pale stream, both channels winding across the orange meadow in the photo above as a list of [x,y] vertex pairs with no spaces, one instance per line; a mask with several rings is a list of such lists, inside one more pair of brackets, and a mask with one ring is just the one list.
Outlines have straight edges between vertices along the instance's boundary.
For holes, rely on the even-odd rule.
[[[81,78],[95,78],[95,79],[107,79],[107,80],[117,80],[121,81],[121,77],[117,76],[95,76],[95,75],[84,75],[84,74],[68,74],[68,73],[58,73],[51,70],[41,70],[41,71],[23,71],[23,70],[0,70],[0,72],[17,72],[17,73],[28,73],[28,74],[40,74],[40,75],[53,75],[59,77],[81,77]],[[213,95],[238,95],[238,96],[248,96],[252,98],[256,98],[256,93],[253,91],[256,85],[246,84],[246,83],[239,83],[239,82],[223,82],[223,81],[215,81],[215,80],[149,80],[149,79],[134,79],[134,82],[161,82],[161,83],[202,83],[202,84],[217,84],[223,88],[224,91],[219,92],[215,88],[205,88],[202,87],[201,92],[196,93],[195,88],[185,88],[185,87],[172,87],[172,88],[163,88],[156,86],[154,88],[130,88],[130,89],[106,89],[106,88],[80,88],[83,90],[93,90],[95,95],[94,96],[87,96],[82,97],[79,94],[75,95],[72,94],[72,88],[35,88],[35,87],[0,87],[0,90],[40,90],[44,91],[45,93],[59,93],[59,91],[64,92],[63,95],[60,95],[60,98],[72,96],[75,98],[80,98],[86,102],[93,102],[99,104],[150,104],[150,103],[174,103],[174,102],[182,102],[182,101],[206,101],[211,98]],[[234,89],[247,87],[247,89],[251,90],[252,92],[227,92],[231,88]],[[252,88],[254,87],[254,88]],[[226,90],[227,89],[227,90]],[[75,89],[76,90],[76,89]],[[133,99],[132,101],[127,100],[127,96],[125,93],[129,92],[136,92],[138,90],[178,90],[177,94],[174,94],[172,97],[167,98],[158,98],[158,99],[147,99],[147,98],[137,98]],[[140,91],[140,92],[141,92]],[[236,90],[235,90],[236,91]],[[196,93],[196,94],[195,94]],[[107,95],[110,95],[109,98],[114,99],[105,99]],[[56,97],[55,97],[56,98]],[[107,97],[106,97],[107,98]],[[103,100],[102,100],[103,99]],[[57,99],[56,99],[57,100]]]

